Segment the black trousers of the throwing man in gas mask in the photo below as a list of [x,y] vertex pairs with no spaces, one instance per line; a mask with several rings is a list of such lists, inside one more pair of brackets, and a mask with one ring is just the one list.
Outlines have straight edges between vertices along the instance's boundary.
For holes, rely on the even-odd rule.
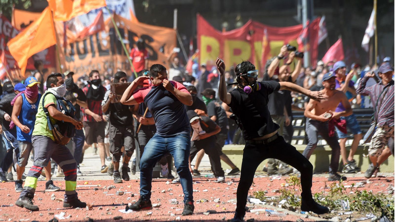
[[246,143],[243,150],[243,162],[241,164],[241,175],[237,187],[236,213],[244,217],[247,195],[250,190],[254,174],[259,164],[267,159],[275,158],[295,167],[301,173],[302,199],[311,200],[311,186],[313,177],[313,166],[311,163],[293,147],[286,143],[282,136],[269,144]]

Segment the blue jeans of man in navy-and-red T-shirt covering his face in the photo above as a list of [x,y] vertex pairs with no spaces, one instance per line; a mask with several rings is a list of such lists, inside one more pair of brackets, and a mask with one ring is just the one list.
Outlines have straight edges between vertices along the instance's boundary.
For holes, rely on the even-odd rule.
[[145,200],[151,198],[152,169],[164,154],[169,152],[174,158],[174,165],[180,176],[185,201],[193,201],[192,175],[189,171],[189,151],[191,138],[189,134],[162,137],[155,134],[145,145],[140,160],[140,196]]

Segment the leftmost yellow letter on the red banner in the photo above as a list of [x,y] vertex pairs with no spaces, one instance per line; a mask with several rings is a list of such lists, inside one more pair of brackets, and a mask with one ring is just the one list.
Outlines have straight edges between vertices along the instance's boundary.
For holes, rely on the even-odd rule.
[[201,36],[200,38],[200,63],[215,61],[220,55],[219,41],[210,36]]

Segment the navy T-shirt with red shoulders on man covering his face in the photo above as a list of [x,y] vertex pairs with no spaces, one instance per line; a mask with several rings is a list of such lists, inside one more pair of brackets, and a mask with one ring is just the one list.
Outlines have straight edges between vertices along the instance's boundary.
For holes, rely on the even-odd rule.
[[[181,83],[170,83],[181,92],[188,92]],[[191,128],[184,104],[167,91],[163,84],[141,88],[134,92],[133,97],[136,102],[147,105],[154,117],[156,134],[162,137],[190,134]]]

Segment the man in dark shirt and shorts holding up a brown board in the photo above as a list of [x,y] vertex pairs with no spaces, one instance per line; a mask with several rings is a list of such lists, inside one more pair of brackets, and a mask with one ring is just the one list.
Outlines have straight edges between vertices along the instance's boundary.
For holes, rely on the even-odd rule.
[[[128,77],[123,71],[118,71],[114,75],[113,83],[126,83]],[[116,95],[107,90],[102,102],[103,113],[109,113],[110,118],[110,152],[113,154],[113,160],[109,164],[108,175],[114,175],[114,183],[129,181],[128,165],[132,157],[134,147],[134,127],[133,127],[133,106],[123,105]],[[119,172],[119,161],[122,156],[122,146],[125,147],[125,155],[122,164],[122,179]]]

